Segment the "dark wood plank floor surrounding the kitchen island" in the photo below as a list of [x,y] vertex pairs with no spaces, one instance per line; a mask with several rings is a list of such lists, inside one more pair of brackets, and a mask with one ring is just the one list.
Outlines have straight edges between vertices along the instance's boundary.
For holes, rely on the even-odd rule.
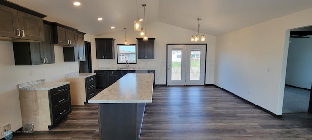
[[[73,105],[50,131],[11,140],[98,140],[97,104]],[[275,118],[215,86],[155,87],[140,140],[312,140],[312,114]]]

